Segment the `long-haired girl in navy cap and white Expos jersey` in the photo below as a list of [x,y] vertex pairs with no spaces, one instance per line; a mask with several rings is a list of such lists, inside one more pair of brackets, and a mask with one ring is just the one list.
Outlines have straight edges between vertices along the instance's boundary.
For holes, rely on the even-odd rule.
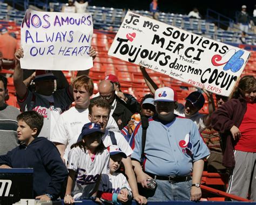
[[104,147],[100,125],[89,122],[82,128],[83,139],[71,146],[68,156],[69,178],[65,203],[76,199],[95,199],[100,175],[109,163],[109,151]]

